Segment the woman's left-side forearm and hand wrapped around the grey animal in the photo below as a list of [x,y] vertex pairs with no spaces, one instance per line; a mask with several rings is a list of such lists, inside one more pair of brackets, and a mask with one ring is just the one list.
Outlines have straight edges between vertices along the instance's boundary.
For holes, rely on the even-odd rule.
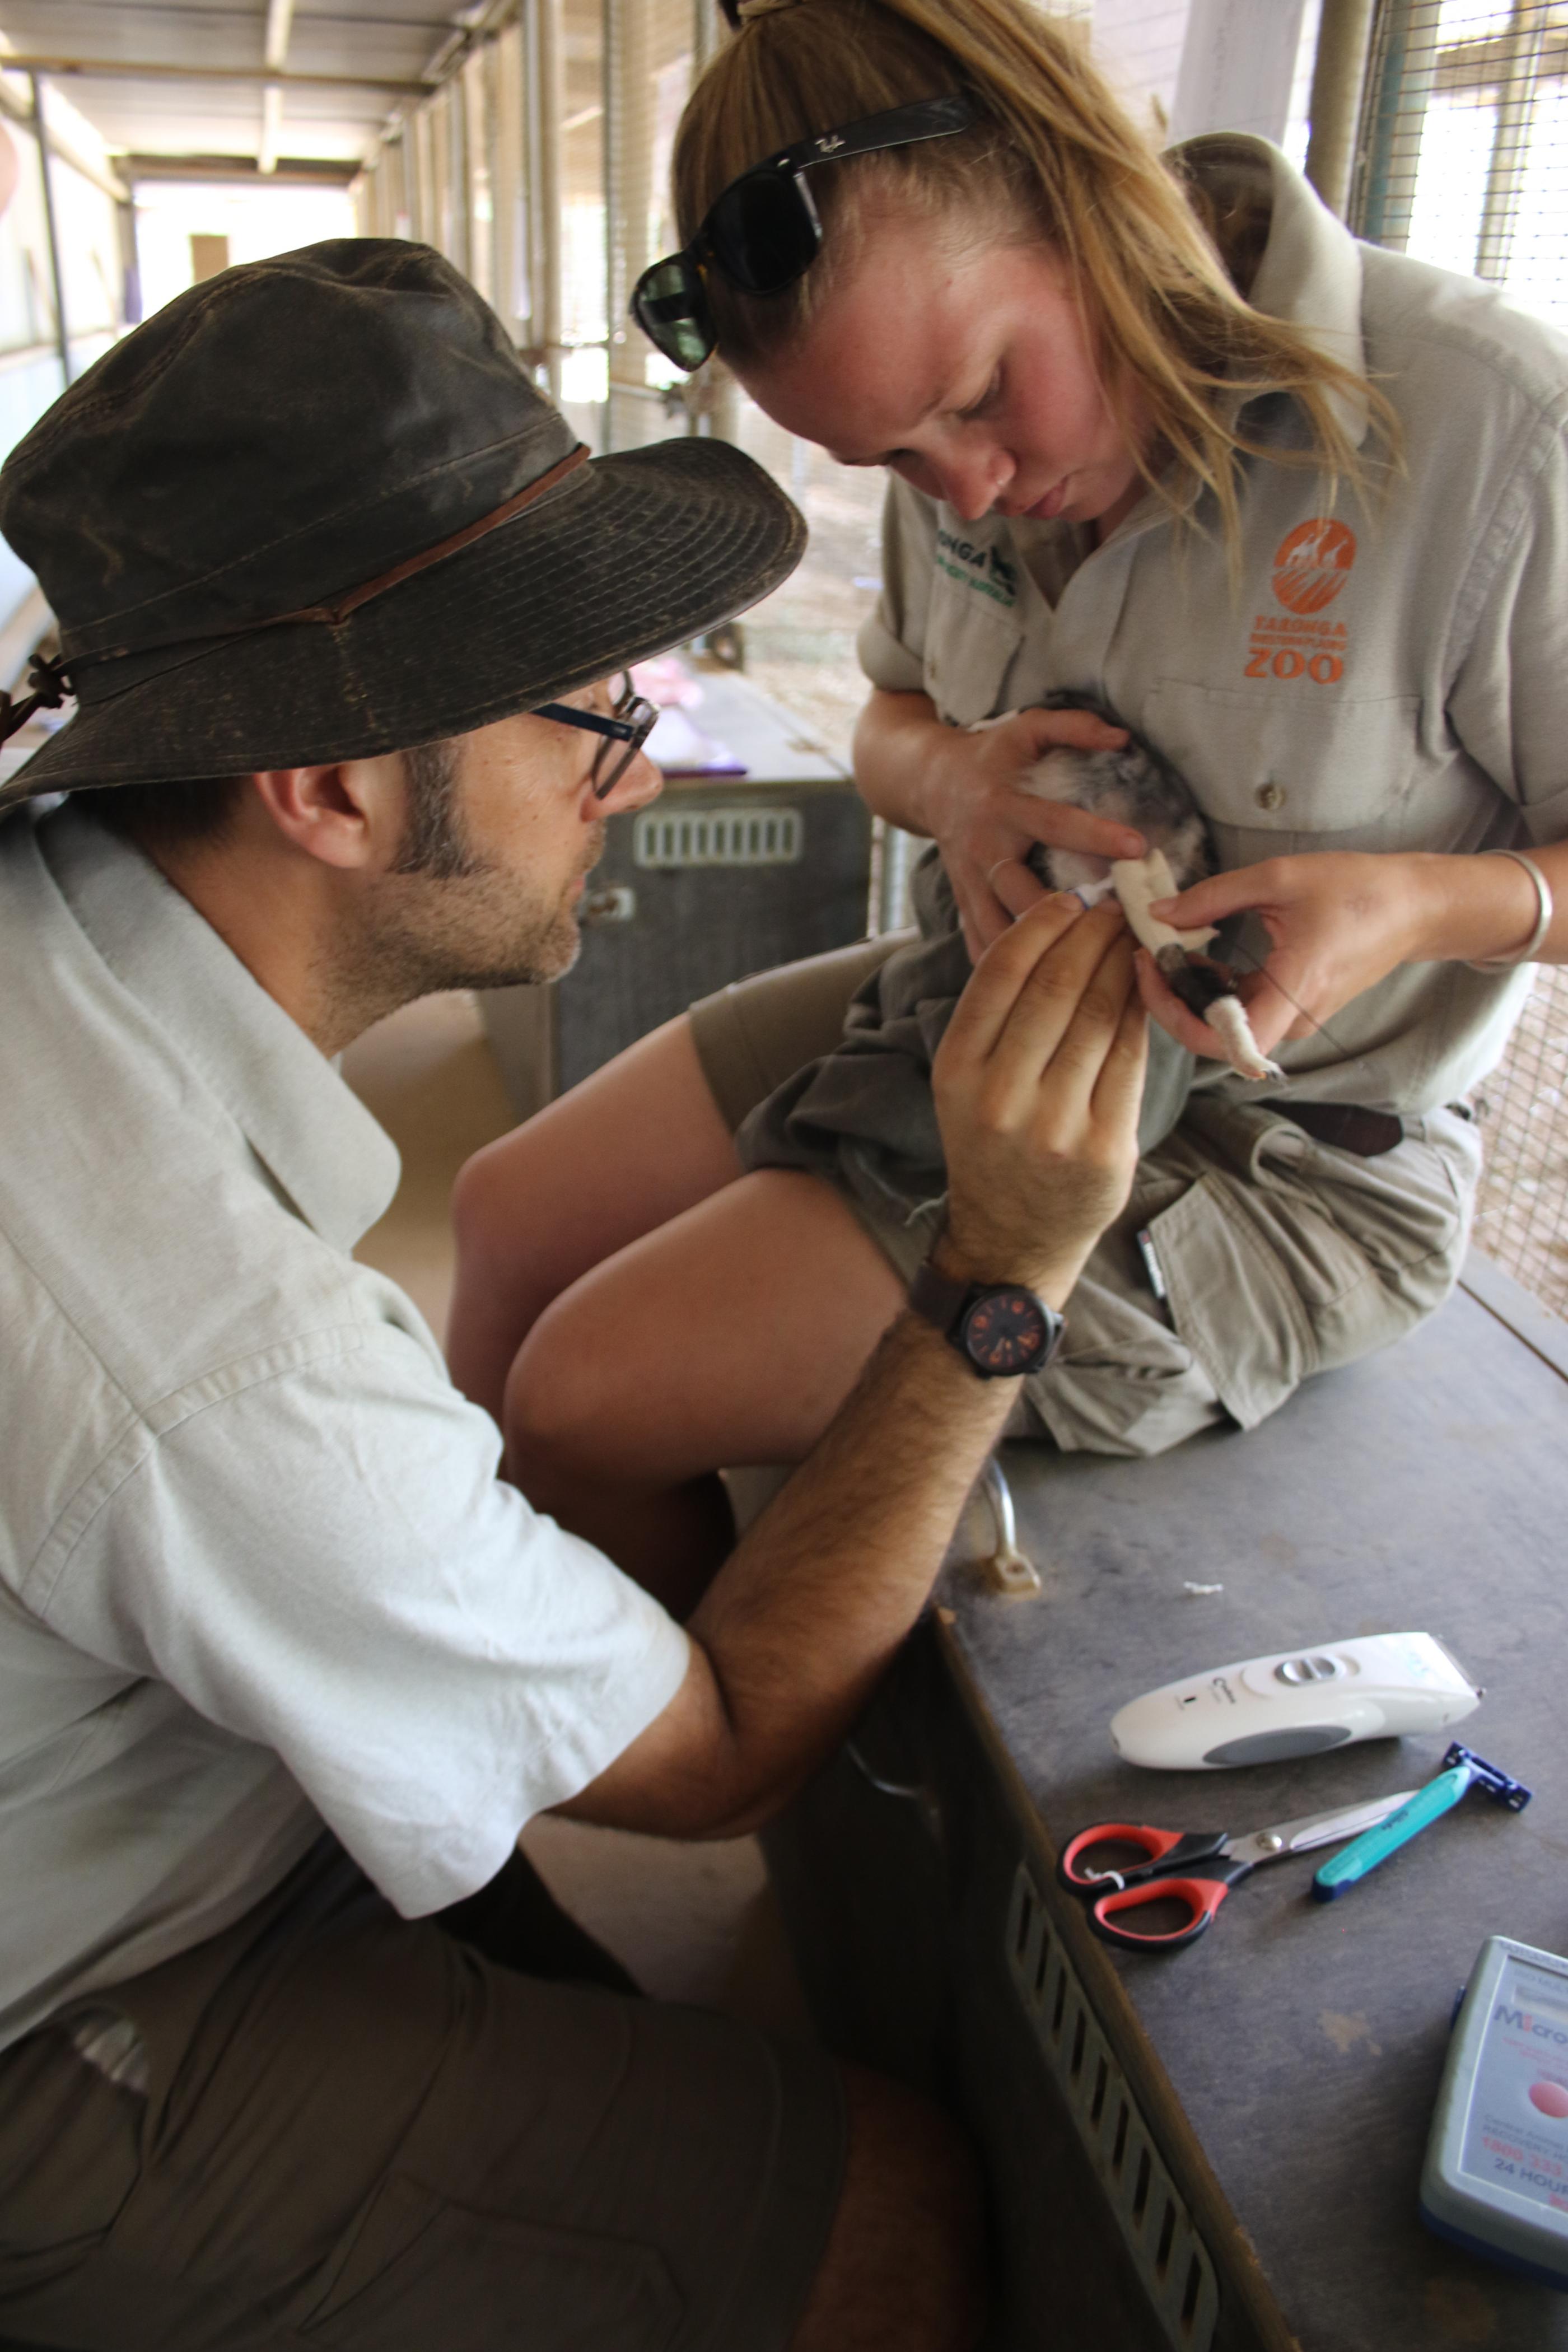
[[1143,835],[1126,826],[1018,790],[1018,776],[1056,746],[1124,743],[1126,731],[1093,710],[1020,710],[966,734],[943,724],[929,694],[877,687],[856,727],[856,783],[877,816],[938,842],[964,941],[978,957],[1044,898],[1044,884],[1025,866],[1037,842],[1100,858],[1143,856]]

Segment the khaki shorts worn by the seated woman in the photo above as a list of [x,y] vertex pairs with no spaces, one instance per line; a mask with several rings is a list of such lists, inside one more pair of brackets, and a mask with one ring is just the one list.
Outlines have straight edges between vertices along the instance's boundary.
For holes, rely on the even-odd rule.
[[[750,1122],[748,1164],[806,1164],[835,1183],[905,1282],[940,1230],[940,1174],[877,1197],[844,1183],[832,1155],[790,1157],[788,1120],[762,1105],[835,1054],[849,1000],[914,936],[762,971],[691,1007],[719,1110],[731,1129]],[[1413,1331],[1458,1279],[1481,1148],[1462,1108],[1403,1127],[1394,1150],[1363,1160],[1272,1105],[1192,1094],[1138,1162],[1124,1216],[1067,1301],[1063,1350],[1025,1381],[1009,1435],[1161,1454],[1215,1423],[1251,1430],[1312,1374]]]

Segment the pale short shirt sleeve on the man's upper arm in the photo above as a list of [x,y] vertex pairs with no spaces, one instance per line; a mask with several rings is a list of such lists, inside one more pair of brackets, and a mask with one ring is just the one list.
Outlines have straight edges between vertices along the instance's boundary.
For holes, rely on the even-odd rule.
[[686,1635],[496,1479],[496,1425],[395,1324],[160,1421],[49,1621],[275,1750],[404,1917],[677,1693]]

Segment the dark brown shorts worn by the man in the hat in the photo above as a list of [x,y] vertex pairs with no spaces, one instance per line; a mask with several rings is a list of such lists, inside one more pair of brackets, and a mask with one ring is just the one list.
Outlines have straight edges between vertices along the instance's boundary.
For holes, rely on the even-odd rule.
[[96,1994],[96,2044],[66,2016],[0,2051],[0,2338],[783,2352],[839,2197],[837,2067],[520,1973],[480,1943],[538,1903],[487,1896],[404,1922],[324,1839]]

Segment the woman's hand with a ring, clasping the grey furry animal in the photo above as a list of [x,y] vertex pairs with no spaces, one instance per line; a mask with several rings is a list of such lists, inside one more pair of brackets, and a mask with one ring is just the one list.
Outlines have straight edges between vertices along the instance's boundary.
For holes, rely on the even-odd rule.
[[1107,727],[1093,710],[1020,710],[980,734],[943,727],[943,739],[933,748],[929,816],[971,960],[1046,896],[1027,866],[1039,842],[1095,858],[1143,856],[1140,833],[1018,790],[1023,771],[1048,750],[1121,750],[1124,727]]

